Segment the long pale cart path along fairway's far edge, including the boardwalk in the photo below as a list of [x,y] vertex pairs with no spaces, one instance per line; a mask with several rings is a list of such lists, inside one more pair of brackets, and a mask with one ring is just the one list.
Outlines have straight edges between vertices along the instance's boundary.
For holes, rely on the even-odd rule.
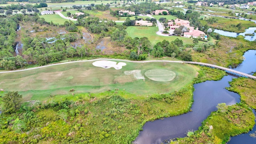
[[224,68],[222,66],[216,66],[214,64],[207,64],[207,63],[203,63],[203,62],[186,62],[186,61],[173,61],[173,60],[131,61],[131,60],[120,60],[120,59],[109,59],[109,58],[99,58],[99,59],[93,59],[93,60],[78,60],[78,61],[72,61],[72,62],[63,62],[63,63],[58,63],[58,64],[50,64],[50,65],[46,65],[46,66],[39,66],[39,67],[36,67],[36,68],[28,68],[28,69],[24,69],[24,70],[13,70],[13,71],[0,72],[0,74],[2,74],[2,73],[9,73],[9,72],[21,72],[21,71],[26,71],[26,70],[34,70],[34,69],[38,69],[38,68],[44,68],[44,67],[48,67],[48,66],[56,66],[56,65],[60,65],[60,64],[69,64],[69,63],[74,63],[74,62],[91,62],[91,61],[96,61],[96,60],[118,60],[118,61],[123,61],[123,62],[134,62],[134,63],[177,62],[177,63],[187,63],[187,64],[200,64],[200,65],[204,65],[204,66],[210,66],[210,67],[218,68],[220,70],[226,70],[226,71],[229,71],[229,72],[240,74],[242,76],[247,76],[248,78],[256,79],[256,76],[252,76],[250,74],[245,74],[243,72],[238,72],[236,70],[232,70],[232,69],[229,69],[229,68]]

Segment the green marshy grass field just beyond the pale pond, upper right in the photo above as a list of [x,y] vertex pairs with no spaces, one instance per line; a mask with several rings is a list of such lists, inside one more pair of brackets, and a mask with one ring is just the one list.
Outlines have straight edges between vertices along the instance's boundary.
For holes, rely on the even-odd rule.
[[[212,26],[216,29],[225,30],[229,32],[245,32],[246,28],[256,26],[254,22],[246,21],[246,20],[236,20],[236,19],[219,18],[219,17],[214,17],[214,18],[216,18],[218,21],[213,24],[208,24],[208,26]],[[207,24],[205,20],[200,20],[200,23],[202,25]],[[238,30],[238,27],[236,27],[236,25],[239,23],[241,23],[242,25],[242,28],[240,30]]]

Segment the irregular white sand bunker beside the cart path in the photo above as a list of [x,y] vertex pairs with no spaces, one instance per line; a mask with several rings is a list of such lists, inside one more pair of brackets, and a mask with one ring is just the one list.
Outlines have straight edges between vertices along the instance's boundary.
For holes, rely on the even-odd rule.
[[92,65],[102,68],[115,68],[116,70],[120,70],[122,66],[126,66],[126,63],[124,62],[113,62],[110,60],[98,60],[96,62],[93,62]]

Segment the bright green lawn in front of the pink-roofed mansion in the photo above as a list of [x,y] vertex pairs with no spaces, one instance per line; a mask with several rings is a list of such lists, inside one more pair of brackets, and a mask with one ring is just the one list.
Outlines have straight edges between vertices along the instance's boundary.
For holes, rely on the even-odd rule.
[[[152,45],[163,40],[174,41],[176,38],[182,40],[183,44],[193,44],[193,39],[191,38],[184,38],[180,36],[159,36],[156,34],[158,31],[158,27],[156,26],[128,26],[126,31],[132,38],[142,38],[144,36],[147,37]],[[201,43],[202,42],[199,41],[199,44]]]

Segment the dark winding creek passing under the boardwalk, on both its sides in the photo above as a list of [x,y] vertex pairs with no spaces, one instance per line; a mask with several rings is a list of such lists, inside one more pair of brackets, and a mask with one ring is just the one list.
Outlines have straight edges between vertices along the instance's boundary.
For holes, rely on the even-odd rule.
[[[244,54],[245,60],[235,70],[250,73],[256,72],[256,50],[249,50]],[[170,140],[177,137],[185,137],[190,130],[198,130],[201,122],[207,118],[212,111],[217,110],[219,103],[227,105],[240,102],[240,96],[234,92],[229,92],[225,87],[229,87],[228,82],[236,78],[235,76],[224,76],[219,81],[206,81],[200,84],[194,84],[194,104],[192,112],[165,118],[164,120],[155,120],[146,122],[143,131],[134,141],[134,144],[160,144],[164,140]],[[254,139],[256,143],[256,138]]]

